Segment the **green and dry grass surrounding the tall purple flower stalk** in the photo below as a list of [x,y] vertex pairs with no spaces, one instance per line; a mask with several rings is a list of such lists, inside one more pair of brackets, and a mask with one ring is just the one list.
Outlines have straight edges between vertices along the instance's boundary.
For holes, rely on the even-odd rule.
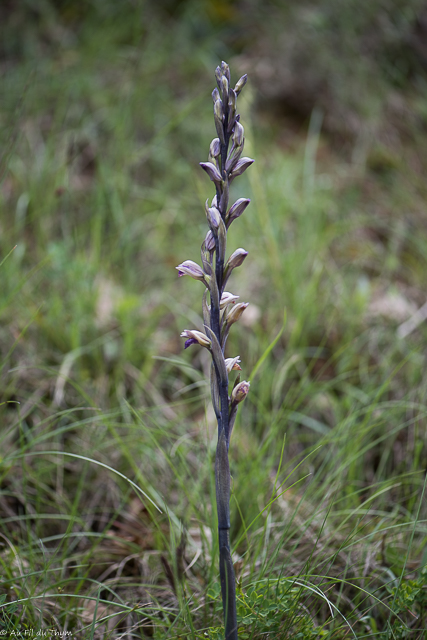
[[[0,620],[17,637],[222,633],[209,362],[178,337],[200,290],[174,270],[204,236],[218,40],[126,20],[2,71]],[[229,234],[249,250],[230,288],[253,301],[228,345],[251,380],[230,449],[240,636],[422,638],[426,328],[396,329],[425,302],[425,130],[390,118],[356,163],[315,113],[284,126],[255,103],[234,193],[252,204]]]

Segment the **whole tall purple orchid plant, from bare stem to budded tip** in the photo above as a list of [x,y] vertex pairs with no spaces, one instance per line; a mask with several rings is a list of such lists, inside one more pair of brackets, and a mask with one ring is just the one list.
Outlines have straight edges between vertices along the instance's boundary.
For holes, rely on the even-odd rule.
[[237,302],[239,296],[225,291],[233,272],[239,267],[247,251],[236,249],[226,260],[227,231],[234,220],[245,211],[250,200],[239,198],[229,207],[230,185],[254,162],[242,157],[244,129],[236,111],[237,97],[247,81],[244,75],[235,85],[230,84],[230,69],[222,62],[215,70],[217,87],[212,92],[217,137],[209,148],[208,162],[200,166],[215,185],[215,195],[209,206],[205,204],[209,230],[201,247],[202,266],[186,260],[178,267],[180,276],[200,280],[204,286],[202,309],[204,331],[186,329],[185,348],[200,345],[212,356],[211,394],[218,421],[218,444],[215,459],[215,486],[218,513],[219,569],[225,621],[225,639],[237,640],[236,586],[230,551],[230,466],[228,449],[239,403],[249,392],[249,382],[240,382],[240,373],[229,393],[229,374],[241,371],[240,357],[225,357],[225,345],[231,326],[239,320],[248,303]]

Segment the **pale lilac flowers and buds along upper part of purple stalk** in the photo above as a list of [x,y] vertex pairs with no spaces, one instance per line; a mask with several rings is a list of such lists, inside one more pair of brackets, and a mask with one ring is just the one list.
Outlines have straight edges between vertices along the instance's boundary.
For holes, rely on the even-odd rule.
[[[192,260],[186,260],[176,268],[180,276],[188,275],[203,282],[209,292],[211,304],[207,304],[206,294],[203,300],[205,332],[187,329],[181,333],[181,336],[187,338],[185,348],[192,344],[199,344],[211,351],[214,378],[212,386],[219,388],[221,385],[224,386],[225,376],[221,377],[221,372],[225,371],[228,374],[233,369],[240,370],[238,365],[240,358],[237,356],[225,359],[224,348],[231,325],[239,320],[248,306],[243,302],[235,304],[238,296],[224,291],[233,269],[239,267],[248,255],[247,251],[239,248],[225,261],[227,231],[231,223],[242,215],[250,203],[248,198],[239,198],[229,207],[229,187],[234,178],[241,175],[254,161],[242,155],[245,136],[243,126],[240,124],[240,116],[236,112],[237,96],[245,86],[247,76],[242,76],[233,89],[230,85],[230,70],[225,62],[221,67],[217,67],[215,76],[217,87],[212,92],[212,99],[217,137],[210,144],[208,162],[200,163],[216,189],[210,205],[208,201],[205,204],[209,230],[201,247],[202,266]],[[232,367],[230,367],[231,361],[233,361]],[[227,431],[227,444],[231,434],[230,426],[232,428],[229,424],[230,418],[235,414],[235,399],[239,398],[237,402],[241,402],[248,390],[248,382],[237,381],[232,396],[227,398],[228,424],[222,424],[223,412],[220,410],[219,403],[214,400],[220,423],[219,429],[225,428]],[[218,396],[216,389],[213,390],[214,395],[215,398]]]

